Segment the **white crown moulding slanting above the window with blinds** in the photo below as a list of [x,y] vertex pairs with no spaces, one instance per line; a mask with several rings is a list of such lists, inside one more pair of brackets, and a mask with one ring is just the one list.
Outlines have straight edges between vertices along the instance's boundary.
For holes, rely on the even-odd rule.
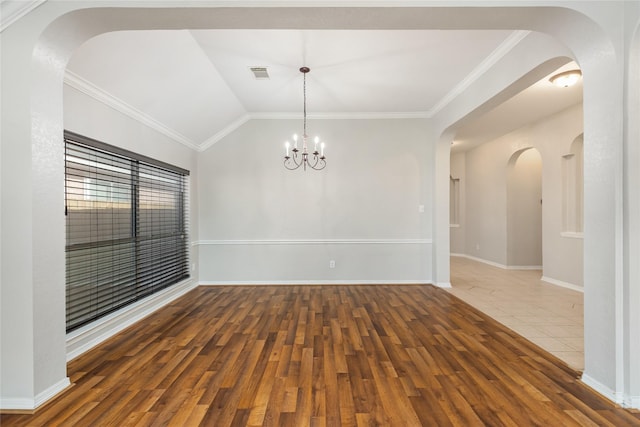
[[114,110],[119,111],[124,115],[131,117],[132,119],[144,124],[145,126],[148,126],[151,129],[168,136],[172,140],[191,148],[192,150],[200,149],[198,144],[196,144],[191,139],[163,125],[162,123],[160,123],[153,117],[149,116],[148,114],[138,110],[137,108],[126,103],[120,98],[117,98],[111,95],[109,92],[99,88],[98,86],[94,85],[93,83],[86,80],[85,78],[80,77],[79,75],[73,73],[72,71],[67,70],[65,72],[64,83],[76,90],[79,90],[85,95],[90,96],[96,101],[101,102],[102,104],[108,107],[111,107]]

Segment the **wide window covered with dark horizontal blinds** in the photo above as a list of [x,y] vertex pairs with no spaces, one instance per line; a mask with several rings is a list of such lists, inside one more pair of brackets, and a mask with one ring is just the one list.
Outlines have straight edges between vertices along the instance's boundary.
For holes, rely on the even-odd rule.
[[65,132],[67,332],[189,277],[188,175]]

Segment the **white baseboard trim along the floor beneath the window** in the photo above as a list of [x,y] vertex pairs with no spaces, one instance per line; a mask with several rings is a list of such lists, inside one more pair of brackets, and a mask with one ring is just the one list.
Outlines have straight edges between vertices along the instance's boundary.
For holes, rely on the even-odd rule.
[[67,361],[111,338],[176,298],[195,289],[197,282],[185,280],[177,285],[153,294],[102,319],[67,334]]

